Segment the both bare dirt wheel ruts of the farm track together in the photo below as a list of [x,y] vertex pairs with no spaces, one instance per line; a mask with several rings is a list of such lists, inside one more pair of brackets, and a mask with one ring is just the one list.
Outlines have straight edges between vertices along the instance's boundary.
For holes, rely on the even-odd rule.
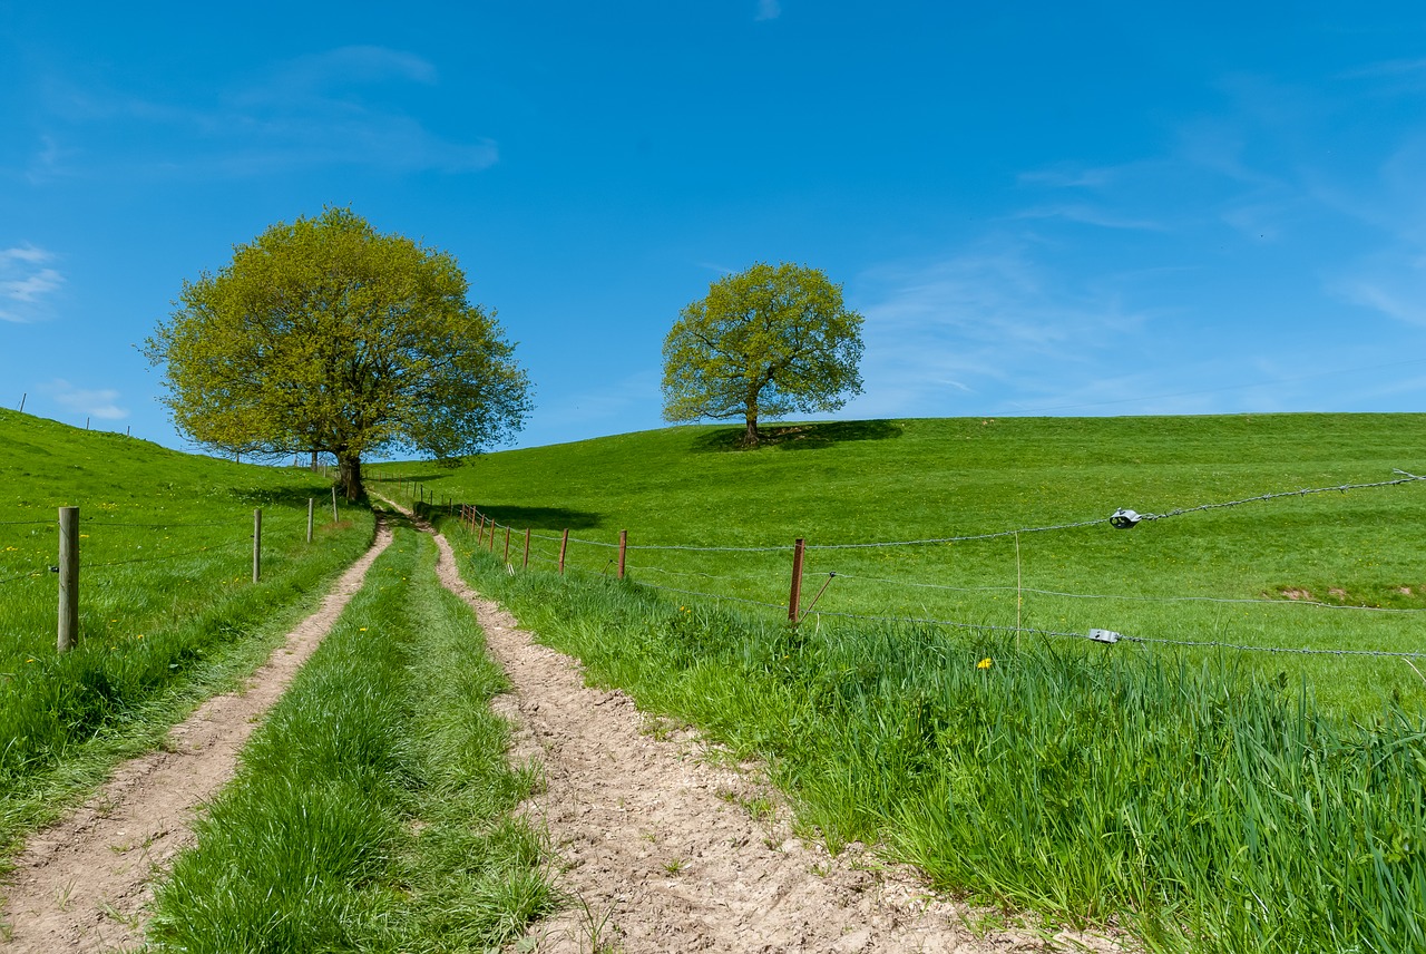
[[[445,538],[435,539],[441,580],[476,613],[515,686],[498,700],[515,726],[512,757],[543,764],[546,786],[522,810],[549,833],[560,887],[576,904],[530,933],[538,950],[1117,950],[1091,937],[977,935],[964,908],[931,897],[914,873],[858,846],[834,858],[793,838],[756,766],[729,764],[696,733],[650,722],[620,692],[586,687],[573,660],[471,590]],[[384,526],[242,693],[204,703],[164,752],[125,763],[78,813],[30,840],[6,886],[11,940],[0,951],[143,943],[155,873],[191,841],[194,811],[232,776],[255,723],[389,542]]]

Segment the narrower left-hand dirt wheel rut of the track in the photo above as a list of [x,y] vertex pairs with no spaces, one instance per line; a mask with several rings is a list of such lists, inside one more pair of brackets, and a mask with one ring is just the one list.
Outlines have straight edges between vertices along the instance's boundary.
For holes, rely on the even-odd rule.
[[29,840],[3,888],[10,930],[0,951],[124,951],[143,944],[143,908],[155,870],[193,841],[194,810],[232,777],[238,750],[391,538],[391,528],[379,525],[371,549],[241,692],[208,699],[170,730],[161,752],[125,761],[78,811]]

